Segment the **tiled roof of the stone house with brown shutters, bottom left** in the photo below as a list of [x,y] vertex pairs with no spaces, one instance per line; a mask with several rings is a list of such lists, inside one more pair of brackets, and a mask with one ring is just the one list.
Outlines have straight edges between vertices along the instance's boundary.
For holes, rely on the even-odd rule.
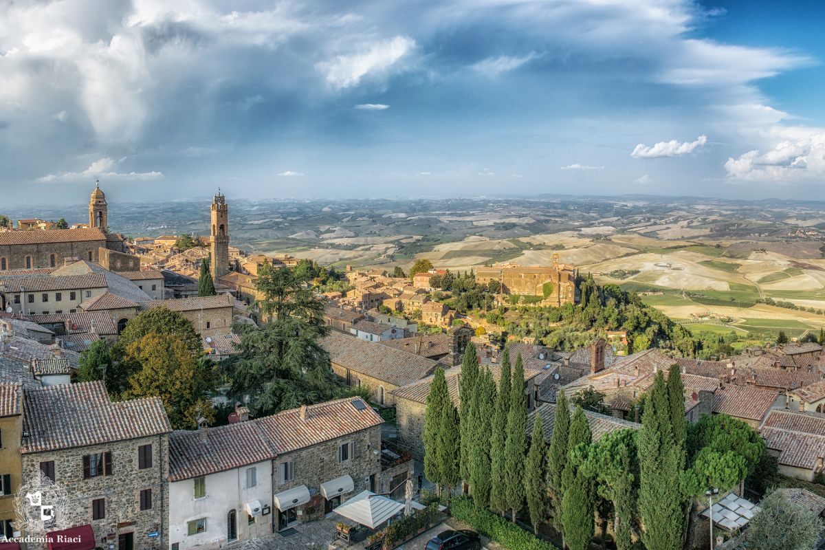
[[26,392],[22,454],[134,440],[172,431],[159,397],[111,402],[102,381]]

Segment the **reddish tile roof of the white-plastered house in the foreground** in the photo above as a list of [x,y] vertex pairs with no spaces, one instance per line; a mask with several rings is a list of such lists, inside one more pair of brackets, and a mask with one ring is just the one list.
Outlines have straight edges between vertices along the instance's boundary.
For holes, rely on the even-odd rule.
[[169,436],[169,481],[224,472],[275,458],[273,445],[257,421],[207,428],[206,440],[200,431],[173,431]]

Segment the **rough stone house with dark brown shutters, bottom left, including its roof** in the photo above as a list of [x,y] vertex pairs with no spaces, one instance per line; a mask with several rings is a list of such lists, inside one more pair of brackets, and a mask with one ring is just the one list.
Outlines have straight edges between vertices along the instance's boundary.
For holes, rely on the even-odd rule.
[[43,472],[64,488],[86,548],[166,547],[172,428],[158,397],[113,403],[103,382],[77,383],[26,390],[23,411],[23,479]]

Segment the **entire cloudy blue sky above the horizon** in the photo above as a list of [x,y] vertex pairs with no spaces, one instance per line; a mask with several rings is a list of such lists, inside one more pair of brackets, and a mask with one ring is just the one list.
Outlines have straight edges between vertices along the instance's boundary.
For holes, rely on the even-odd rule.
[[823,13],[0,0],[0,191],[825,200]]

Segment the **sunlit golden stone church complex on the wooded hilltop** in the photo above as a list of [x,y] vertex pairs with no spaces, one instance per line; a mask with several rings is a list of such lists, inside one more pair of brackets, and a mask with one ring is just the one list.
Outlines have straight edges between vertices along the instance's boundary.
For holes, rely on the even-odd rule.
[[489,284],[497,280],[502,294],[527,294],[544,296],[542,303],[555,307],[563,303],[576,303],[576,269],[559,263],[559,255],[553,255],[552,266],[519,266],[496,262],[493,267],[478,267],[475,282]]

